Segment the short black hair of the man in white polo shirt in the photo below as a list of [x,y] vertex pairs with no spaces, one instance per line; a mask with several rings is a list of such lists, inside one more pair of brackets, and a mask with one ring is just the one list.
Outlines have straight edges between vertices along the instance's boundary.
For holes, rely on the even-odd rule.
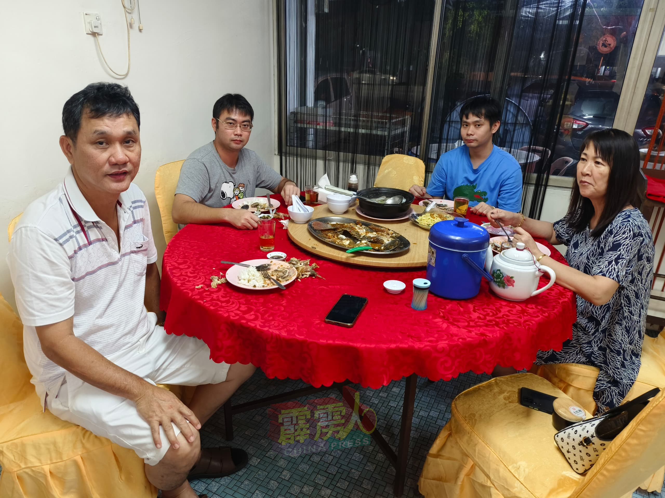
[[126,86],[117,83],[90,83],[80,92],[76,92],[63,107],[63,130],[72,142],[76,143],[76,135],[81,127],[83,113],[87,112],[92,119],[110,116],[117,118],[124,114],[132,114],[136,125],[141,127],[141,116],[138,105]]

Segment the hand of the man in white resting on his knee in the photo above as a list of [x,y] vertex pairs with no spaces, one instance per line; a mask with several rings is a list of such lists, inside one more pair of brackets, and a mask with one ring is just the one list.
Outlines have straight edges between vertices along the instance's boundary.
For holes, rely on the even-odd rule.
[[183,436],[189,442],[193,442],[195,436],[190,424],[197,430],[201,428],[199,419],[196,418],[194,412],[169,390],[154,386],[149,382],[146,382],[146,384],[145,392],[136,400],[136,410],[141,418],[150,425],[156,448],[162,448],[160,426],[164,428],[166,438],[168,438],[174,450],[180,447],[173,428],[174,423],[180,428]]

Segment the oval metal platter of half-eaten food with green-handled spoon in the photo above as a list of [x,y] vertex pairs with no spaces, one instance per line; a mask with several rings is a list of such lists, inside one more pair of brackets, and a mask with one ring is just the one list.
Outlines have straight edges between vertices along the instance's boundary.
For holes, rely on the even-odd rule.
[[[372,256],[398,254],[408,250],[411,246],[411,242],[406,237],[390,230],[390,228],[367,221],[343,218],[342,216],[323,216],[323,218],[311,220],[307,224],[307,229],[321,242],[326,242],[343,250],[370,246],[372,249],[358,252],[372,254]],[[395,248],[390,250],[379,249],[392,240],[398,241]]]

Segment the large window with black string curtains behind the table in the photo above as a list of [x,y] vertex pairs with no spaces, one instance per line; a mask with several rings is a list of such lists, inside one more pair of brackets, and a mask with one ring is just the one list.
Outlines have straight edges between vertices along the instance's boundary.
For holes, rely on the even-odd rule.
[[[503,105],[495,145],[522,165],[538,216],[585,0],[281,0],[283,175],[374,182],[385,155],[415,155],[428,177],[460,145],[460,108]],[[427,179],[426,179],[427,181]]]

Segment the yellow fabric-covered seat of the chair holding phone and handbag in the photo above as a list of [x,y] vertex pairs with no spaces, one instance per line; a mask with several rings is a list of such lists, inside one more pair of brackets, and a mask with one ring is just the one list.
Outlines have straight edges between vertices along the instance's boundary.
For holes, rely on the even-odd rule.
[[554,442],[551,415],[519,404],[519,388],[566,397],[533,374],[493,378],[457,396],[418,488],[427,498],[569,497],[583,477]]

